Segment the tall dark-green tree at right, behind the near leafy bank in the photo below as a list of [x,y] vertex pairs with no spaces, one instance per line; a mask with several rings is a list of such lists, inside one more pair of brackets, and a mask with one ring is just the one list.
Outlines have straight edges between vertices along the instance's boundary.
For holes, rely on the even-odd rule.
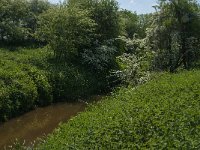
[[191,68],[199,59],[195,56],[199,53],[199,5],[195,0],[160,0],[156,8],[148,35],[158,54],[155,67],[171,72],[180,66]]

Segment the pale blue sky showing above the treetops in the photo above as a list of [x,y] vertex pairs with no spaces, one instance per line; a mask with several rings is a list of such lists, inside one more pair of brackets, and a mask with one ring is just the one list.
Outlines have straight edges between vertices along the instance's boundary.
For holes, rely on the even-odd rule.
[[[52,3],[57,3],[60,0],[49,0]],[[120,7],[123,9],[136,11],[138,14],[150,13],[154,11],[152,8],[156,4],[156,0],[117,0]]]

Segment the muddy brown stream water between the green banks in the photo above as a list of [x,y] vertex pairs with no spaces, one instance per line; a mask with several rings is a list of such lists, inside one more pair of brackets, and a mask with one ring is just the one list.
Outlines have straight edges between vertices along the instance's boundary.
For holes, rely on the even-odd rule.
[[12,144],[15,139],[30,144],[36,138],[51,133],[60,122],[66,122],[86,107],[84,103],[60,103],[37,108],[23,116],[0,125],[0,149]]

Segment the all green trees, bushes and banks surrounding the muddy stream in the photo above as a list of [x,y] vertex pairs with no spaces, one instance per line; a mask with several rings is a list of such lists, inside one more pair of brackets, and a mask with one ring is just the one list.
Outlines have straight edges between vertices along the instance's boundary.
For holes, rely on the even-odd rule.
[[[129,87],[39,147],[200,149],[200,72],[189,71],[200,67],[200,5],[158,0],[154,8],[138,15],[116,0],[0,0],[0,123]],[[154,72],[174,74],[148,83]]]

